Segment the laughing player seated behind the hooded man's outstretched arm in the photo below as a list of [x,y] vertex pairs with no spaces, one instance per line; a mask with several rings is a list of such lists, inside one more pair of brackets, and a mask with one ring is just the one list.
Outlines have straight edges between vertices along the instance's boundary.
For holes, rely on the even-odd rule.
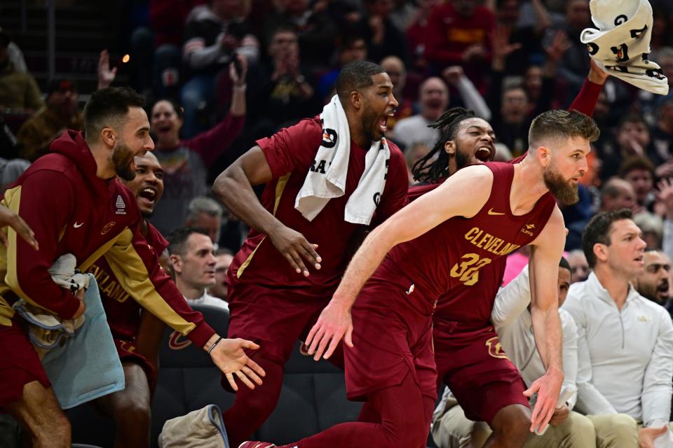
[[[123,181],[131,190],[140,209],[140,233],[160,258],[168,241],[149,223],[154,206],[163,193],[163,169],[153,153],[137,155],[135,179]],[[100,288],[107,323],[124,370],[125,388],[105,395],[97,405],[116,423],[116,444],[122,447],[146,447],[151,423],[150,397],[156,384],[158,346],[163,322],[145,311],[117,281],[105,256],[88,269]]]

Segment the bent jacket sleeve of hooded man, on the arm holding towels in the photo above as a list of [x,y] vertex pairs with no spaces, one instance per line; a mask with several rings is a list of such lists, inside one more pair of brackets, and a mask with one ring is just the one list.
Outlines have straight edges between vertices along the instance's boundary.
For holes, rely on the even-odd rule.
[[67,177],[47,169],[29,174],[20,186],[5,193],[7,207],[26,221],[40,244],[40,250],[36,251],[13,230],[9,232],[5,281],[20,297],[62,318],[75,314],[79,300],[54,283],[48,269],[57,258],[59,235],[69,221],[75,201]]

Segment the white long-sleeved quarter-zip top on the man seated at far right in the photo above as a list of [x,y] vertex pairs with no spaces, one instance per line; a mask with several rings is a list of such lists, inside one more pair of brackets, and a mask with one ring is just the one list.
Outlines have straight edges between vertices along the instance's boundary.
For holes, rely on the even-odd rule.
[[630,286],[621,310],[593,272],[573,283],[563,304],[578,329],[576,408],[629,414],[644,426],[669,421],[673,323],[664,307]]

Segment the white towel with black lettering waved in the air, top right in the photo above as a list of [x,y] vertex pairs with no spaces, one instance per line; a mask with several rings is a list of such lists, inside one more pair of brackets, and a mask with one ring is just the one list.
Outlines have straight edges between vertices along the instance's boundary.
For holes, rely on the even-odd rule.
[[647,0],[591,0],[591,20],[580,41],[606,71],[644,90],[665,95],[668,80],[661,67],[648,60],[652,7]]

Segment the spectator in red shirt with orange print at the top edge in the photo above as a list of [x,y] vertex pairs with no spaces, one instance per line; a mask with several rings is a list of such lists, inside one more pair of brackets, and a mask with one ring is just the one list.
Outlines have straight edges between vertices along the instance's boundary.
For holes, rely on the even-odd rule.
[[461,65],[477,88],[484,88],[494,26],[493,13],[477,0],[451,0],[435,6],[428,18],[428,60],[438,70]]

